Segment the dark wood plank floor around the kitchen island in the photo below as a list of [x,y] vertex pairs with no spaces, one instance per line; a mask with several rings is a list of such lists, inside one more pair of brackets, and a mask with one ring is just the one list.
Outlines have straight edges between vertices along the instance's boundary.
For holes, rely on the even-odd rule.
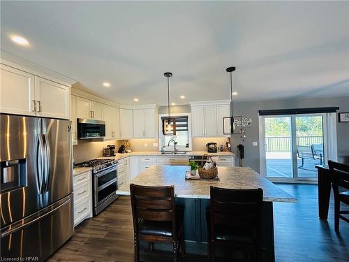
[[[297,203],[274,203],[276,261],[349,261],[349,224],[341,221],[340,233],[334,232],[333,197],[329,220],[321,221],[317,185],[278,185],[295,196]],[[147,252],[141,260],[172,261],[171,255]],[[121,196],[97,217],[82,222],[73,238],[48,261],[133,261],[130,199]],[[179,261],[206,261],[206,257],[179,256]]]

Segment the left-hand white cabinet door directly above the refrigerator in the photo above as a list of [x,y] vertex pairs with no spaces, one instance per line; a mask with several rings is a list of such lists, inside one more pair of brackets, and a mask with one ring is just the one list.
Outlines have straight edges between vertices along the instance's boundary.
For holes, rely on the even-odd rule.
[[0,111],[35,115],[34,75],[1,64]]

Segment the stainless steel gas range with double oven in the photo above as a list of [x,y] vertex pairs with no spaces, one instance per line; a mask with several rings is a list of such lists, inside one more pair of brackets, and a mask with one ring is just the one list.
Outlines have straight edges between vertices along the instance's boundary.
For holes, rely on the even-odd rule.
[[92,159],[75,165],[93,168],[94,216],[117,199],[117,163],[115,159]]

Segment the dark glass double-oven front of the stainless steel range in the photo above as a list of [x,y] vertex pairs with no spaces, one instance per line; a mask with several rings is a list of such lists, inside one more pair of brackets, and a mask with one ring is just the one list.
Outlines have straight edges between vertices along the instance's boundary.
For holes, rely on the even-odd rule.
[[113,166],[94,175],[94,206],[97,207],[117,191],[117,167]]

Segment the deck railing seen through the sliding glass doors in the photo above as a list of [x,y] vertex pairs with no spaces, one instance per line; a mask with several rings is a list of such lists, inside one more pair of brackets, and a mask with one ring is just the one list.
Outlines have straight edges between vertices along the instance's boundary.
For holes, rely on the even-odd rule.
[[[297,145],[321,144],[322,136],[297,136]],[[290,136],[268,136],[265,138],[267,152],[289,152],[291,150]]]

